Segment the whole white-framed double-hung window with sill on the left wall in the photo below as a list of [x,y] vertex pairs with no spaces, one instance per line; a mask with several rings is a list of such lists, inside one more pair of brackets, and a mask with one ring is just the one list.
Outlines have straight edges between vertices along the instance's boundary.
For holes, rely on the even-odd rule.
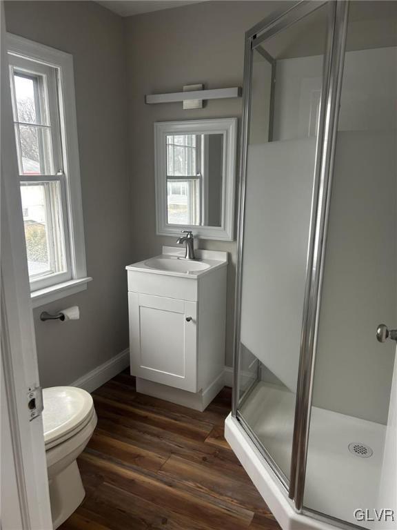
[[71,294],[70,288],[80,291],[90,280],[72,57],[13,35],[8,45],[28,272],[34,305],[41,305]]

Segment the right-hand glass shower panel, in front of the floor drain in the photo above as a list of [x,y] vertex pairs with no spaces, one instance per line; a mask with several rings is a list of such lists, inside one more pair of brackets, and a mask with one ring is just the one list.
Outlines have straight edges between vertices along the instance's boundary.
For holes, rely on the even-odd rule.
[[396,97],[397,3],[352,2],[304,506],[380,530],[397,527],[396,342],[376,339],[397,328]]

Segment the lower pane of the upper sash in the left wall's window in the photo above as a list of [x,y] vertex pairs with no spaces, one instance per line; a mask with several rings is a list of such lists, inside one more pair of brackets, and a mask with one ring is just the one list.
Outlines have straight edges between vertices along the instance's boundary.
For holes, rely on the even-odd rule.
[[21,145],[21,160],[19,161],[21,175],[52,175],[50,130],[27,125],[16,127],[19,129]]

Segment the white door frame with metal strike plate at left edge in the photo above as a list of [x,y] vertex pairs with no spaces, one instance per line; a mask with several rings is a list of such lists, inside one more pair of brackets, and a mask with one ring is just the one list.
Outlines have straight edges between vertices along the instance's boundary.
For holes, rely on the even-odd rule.
[[[39,384],[28,264],[12,129],[6,29],[1,2],[1,528],[52,529],[43,424],[28,390]],[[10,223],[9,211],[21,222]]]

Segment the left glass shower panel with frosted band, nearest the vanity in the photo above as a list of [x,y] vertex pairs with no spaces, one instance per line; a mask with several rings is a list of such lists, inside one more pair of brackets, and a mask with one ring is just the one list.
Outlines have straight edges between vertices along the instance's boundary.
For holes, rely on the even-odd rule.
[[252,50],[237,414],[285,485],[331,8],[312,2]]

